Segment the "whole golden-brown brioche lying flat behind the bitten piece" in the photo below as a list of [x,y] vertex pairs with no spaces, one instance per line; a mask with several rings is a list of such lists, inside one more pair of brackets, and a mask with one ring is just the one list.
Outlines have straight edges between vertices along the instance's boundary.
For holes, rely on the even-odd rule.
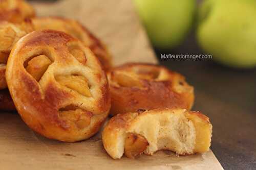
[[110,114],[178,107],[190,110],[194,88],[177,72],[153,64],[128,63],[108,73]]

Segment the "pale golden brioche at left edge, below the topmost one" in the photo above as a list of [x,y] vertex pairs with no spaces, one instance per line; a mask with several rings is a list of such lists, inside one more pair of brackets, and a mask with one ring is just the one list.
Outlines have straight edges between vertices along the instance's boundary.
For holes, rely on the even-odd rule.
[[13,45],[20,38],[32,31],[33,26],[29,19],[18,24],[0,21],[0,89],[7,88],[5,69]]

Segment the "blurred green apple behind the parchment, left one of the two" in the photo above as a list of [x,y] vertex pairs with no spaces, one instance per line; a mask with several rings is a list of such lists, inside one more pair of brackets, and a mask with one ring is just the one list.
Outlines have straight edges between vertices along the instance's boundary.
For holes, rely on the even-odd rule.
[[170,50],[186,37],[196,14],[195,0],[134,0],[153,46]]

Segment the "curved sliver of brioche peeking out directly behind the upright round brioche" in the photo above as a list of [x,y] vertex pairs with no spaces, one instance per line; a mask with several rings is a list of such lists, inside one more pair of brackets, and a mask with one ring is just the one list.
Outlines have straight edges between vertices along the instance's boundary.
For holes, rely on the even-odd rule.
[[57,30],[81,40],[98,57],[103,68],[111,68],[111,56],[105,45],[78,21],[61,17],[35,17],[32,19],[35,30]]

